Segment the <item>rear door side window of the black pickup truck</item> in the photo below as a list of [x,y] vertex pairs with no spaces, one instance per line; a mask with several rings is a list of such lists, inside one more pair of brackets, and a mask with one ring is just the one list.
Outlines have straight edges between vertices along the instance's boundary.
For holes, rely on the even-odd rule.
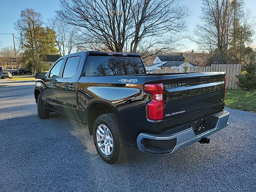
[[76,74],[81,56],[69,57],[66,61],[63,77],[70,78]]

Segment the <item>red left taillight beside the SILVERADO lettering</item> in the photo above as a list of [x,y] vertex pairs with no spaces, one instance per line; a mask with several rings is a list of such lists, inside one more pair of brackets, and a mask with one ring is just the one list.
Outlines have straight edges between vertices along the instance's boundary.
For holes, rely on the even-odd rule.
[[158,121],[164,118],[164,89],[162,83],[146,84],[144,91],[151,94],[152,99],[147,103],[148,119]]

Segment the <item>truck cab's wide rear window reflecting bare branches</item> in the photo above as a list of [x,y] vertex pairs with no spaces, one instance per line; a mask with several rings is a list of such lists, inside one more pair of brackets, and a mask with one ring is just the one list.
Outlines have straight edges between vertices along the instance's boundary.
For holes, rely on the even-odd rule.
[[88,56],[86,76],[145,74],[140,58]]

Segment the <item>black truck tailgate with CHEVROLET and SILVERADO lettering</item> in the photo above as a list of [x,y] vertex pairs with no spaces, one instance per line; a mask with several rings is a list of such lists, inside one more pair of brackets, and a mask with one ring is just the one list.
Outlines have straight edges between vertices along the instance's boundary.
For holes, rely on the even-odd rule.
[[165,75],[164,129],[221,111],[224,79],[224,72]]

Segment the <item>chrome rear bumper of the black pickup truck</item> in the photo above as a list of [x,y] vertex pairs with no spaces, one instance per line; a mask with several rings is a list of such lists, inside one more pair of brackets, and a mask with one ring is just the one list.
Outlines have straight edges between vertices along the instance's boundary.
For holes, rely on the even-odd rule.
[[[230,113],[227,111],[213,114],[211,118],[215,123],[214,127],[200,135],[196,135],[192,127],[186,128],[184,126],[172,129],[176,131],[171,130],[172,134],[169,135],[148,134],[142,132],[137,137],[138,149],[140,151],[154,154],[172,153],[226,127],[228,125],[229,114]],[[159,145],[161,145],[161,147],[159,147]],[[165,145],[165,147],[162,147],[163,145]]]

